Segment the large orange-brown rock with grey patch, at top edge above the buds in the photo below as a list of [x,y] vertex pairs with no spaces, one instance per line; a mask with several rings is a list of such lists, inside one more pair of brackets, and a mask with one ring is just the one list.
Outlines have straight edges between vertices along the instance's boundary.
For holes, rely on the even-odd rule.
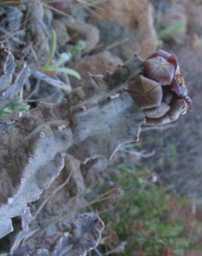
[[122,60],[131,58],[135,53],[145,58],[156,50],[158,37],[154,29],[152,4],[147,0],[110,0],[106,5],[98,12],[102,18],[98,15],[91,18],[100,29],[101,44],[107,46],[128,38],[127,42],[111,51]]

